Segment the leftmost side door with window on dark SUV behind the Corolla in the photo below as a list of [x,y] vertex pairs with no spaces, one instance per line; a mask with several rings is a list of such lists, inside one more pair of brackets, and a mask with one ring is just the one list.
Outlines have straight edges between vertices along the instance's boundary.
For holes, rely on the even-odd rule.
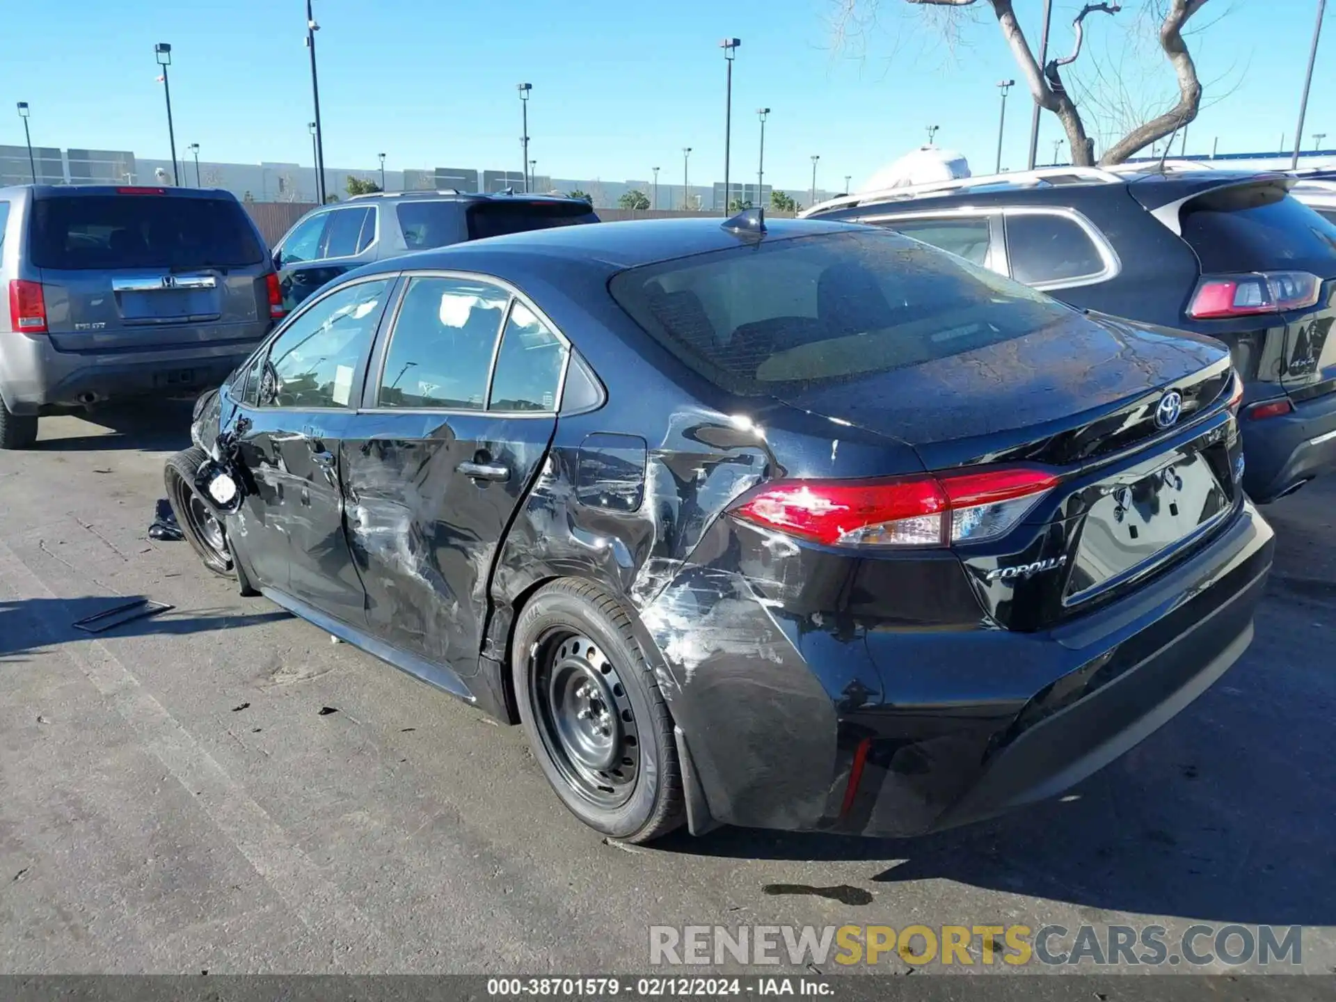
[[283,305],[291,310],[326,282],[369,261],[377,238],[375,206],[327,208],[303,219],[274,251]]

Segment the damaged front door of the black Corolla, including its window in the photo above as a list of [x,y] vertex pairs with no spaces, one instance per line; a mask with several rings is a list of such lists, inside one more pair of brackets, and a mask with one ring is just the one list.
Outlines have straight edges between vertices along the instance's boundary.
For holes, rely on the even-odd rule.
[[339,453],[393,283],[342,286],[295,315],[259,361],[254,403],[234,424],[255,484],[235,536],[257,584],[359,629],[366,603],[343,534]]

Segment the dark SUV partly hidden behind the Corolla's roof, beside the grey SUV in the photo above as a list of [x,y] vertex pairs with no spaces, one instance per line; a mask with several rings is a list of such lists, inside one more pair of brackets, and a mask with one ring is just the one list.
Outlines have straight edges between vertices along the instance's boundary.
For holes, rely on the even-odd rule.
[[402,191],[354,195],[303,215],[274,248],[283,305],[373,261],[549,226],[597,223],[584,199]]

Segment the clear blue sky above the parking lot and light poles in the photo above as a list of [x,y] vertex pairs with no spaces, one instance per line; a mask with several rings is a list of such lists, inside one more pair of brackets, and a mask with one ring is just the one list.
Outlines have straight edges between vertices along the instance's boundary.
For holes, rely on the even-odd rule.
[[[1110,76],[1130,80],[1134,103],[1173,95],[1168,64],[1130,48],[1137,8],[1088,20],[1090,49]],[[755,175],[755,108],[766,127],[766,179],[836,190],[919,144],[939,146],[975,172],[995,155],[995,81],[1017,76],[990,8],[979,4],[954,45],[934,41],[919,8],[880,0],[880,24],[836,49],[836,0],[317,0],[326,162],[387,166],[520,167],[516,83],[533,84],[530,156],[540,174],[681,182],[691,146],[693,183],[723,178],[724,60],[733,73],[733,176]],[[1015,0],[1037,43],[1041,0]],[[1055,45],[1070,45],[1078,3],[1055,0]],[[1189,151],[1277,148],[1293,140],[1316,0],[1212,0],[1190,43],[1206,107]],[[1228,16],[1221,17],[1220,15]],[[1218,20],[1216,20],[1218,19]],[[302,0],[61,0],[5,4],[0,108],[32,106],[35,144],[134,150],[167,156],[154,43],[172,44],[178,155],[310,162],[311,118]],[[1214,24],[1210,24],[1216,20]],[[1304,128],[1336,146],[1336,5],[1329,5]],[[1085,60],[1085,57],[1083,57]],[[1142,81],[1144,77],[1144,81]],[[1013,91],[1003,164],[1023,166],[1029,98]],[[1061,136],[1043,116],[1041,162]],[[17,116],[0,115],[0,143],[23,143]],[[1176,146],[1177,150],[1177,146]]]

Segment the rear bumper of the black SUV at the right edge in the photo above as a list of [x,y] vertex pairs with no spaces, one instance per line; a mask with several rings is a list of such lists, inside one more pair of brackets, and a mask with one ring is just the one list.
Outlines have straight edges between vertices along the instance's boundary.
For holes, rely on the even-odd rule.
[[1336,470],[1336,393],[1295,405],[1289,414],[1241,420],[1244,490],[1273,501],[1305,480]]

